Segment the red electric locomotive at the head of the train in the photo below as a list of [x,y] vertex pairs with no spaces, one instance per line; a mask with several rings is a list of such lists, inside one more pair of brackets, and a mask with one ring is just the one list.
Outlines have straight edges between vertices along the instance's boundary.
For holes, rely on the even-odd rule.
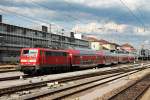
[[65,50],[24,48],[21,50],[21,71],[27,74],[48,73],[57,69],[70,68],[70,56]]

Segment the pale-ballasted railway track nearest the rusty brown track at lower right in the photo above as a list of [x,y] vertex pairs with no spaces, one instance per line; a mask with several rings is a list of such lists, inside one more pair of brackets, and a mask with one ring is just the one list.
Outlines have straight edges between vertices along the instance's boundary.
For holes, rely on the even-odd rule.
[[59,89],[54,89],[54,90],[52,89],[53,91],[47,89],[47,91],[43,92],[42,94],[40,93],[40,95],[38,96],[34,94],[30,94],[26,96],[21,96],[21,99],[22,97],[23,99],[30,99],[30,98],[37,98],[37,97],[40,97],[41,99],[45,99],[45,97],[43,98],[43,96],[47,96],[46,98],[49,98],[49,99],[62,99],[65,96],[69,96],[74,93],[84,91],[86,89],[90,89],[98,85],[105,84],[107,82],[132,74],[134,72],[136,71],[132,71],[129,73],[115,74],[115,75],[112,75],[111,77],[105,77],[105,78],[94,77],[94,78],[81,79],[81,80],[73,81],[72,84],[67,84],[67,86],[65,86],[64,88],[62,87]]

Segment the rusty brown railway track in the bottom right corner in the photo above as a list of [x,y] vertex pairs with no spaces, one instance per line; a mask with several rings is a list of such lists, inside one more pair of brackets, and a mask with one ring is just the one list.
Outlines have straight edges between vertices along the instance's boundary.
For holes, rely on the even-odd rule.
[[120,100],[120,99],[140,100],[142,95],[150,87],[150,76],[149,75],[147,75],[145,78],[135,82],[128,88],[119,92],[117,95],[114,95],[113,97],[110,98],[110,100]]

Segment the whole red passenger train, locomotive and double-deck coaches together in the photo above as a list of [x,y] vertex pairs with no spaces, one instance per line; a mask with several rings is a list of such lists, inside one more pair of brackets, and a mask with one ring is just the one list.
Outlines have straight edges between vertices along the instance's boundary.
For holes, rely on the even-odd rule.
[[53,71],[93,68],[134,62],[134,60],[133,54],[113,50],[23,48],[20,56],[20,70],[26,74],[48,74]]

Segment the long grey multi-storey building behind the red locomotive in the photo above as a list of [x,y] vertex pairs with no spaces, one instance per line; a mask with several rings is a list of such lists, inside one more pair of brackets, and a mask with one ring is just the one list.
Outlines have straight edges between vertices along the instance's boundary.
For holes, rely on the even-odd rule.
[[20,49],[25,47],[89,48],[89,42],[0,22],[0,62],[18,61]]

